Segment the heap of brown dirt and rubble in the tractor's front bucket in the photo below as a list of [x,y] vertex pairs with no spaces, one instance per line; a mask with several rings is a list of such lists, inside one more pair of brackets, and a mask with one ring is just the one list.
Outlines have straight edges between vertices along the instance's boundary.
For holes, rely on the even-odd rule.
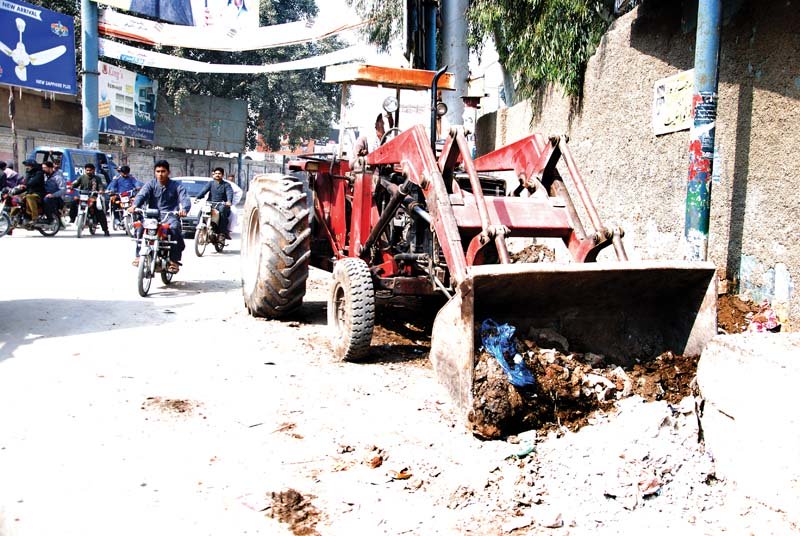
[[495,439],[529,429],[576,431],[594,412],[611,410],[615,401],[631,395],[677,404],[691,394],[697,370],[698,358],[671,352],[623,368],[597,354],[567,352],[563,337],[549,330],[532,330],[513,345],[509,358],[519,367],[524,364],[533,385],[512,385],[495,355],[479,348],[469,414],[478,437]]

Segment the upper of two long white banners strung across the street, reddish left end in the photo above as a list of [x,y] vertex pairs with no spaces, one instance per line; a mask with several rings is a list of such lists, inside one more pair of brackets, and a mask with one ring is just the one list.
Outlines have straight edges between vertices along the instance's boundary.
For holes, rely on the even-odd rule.
[[319,41],[364,24],[362,21],[345,25],[297,21],[260,28],[195,27],[140,19],[104,9],[98,20],[98,30],[107,37],[148,45],[241,52]]

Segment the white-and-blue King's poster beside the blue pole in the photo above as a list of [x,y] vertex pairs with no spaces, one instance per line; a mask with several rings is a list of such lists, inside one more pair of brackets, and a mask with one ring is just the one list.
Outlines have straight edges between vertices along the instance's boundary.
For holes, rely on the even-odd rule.
[[158,82],[103,61],[97,66],[100,132],[153,141]]

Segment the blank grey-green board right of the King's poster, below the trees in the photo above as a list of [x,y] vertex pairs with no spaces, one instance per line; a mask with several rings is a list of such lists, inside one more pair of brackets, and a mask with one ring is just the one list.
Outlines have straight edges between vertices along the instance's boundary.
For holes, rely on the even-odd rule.
[[226,153],[244,152],[247,102],[189,95],[177,108],[160,98],[155,144]]

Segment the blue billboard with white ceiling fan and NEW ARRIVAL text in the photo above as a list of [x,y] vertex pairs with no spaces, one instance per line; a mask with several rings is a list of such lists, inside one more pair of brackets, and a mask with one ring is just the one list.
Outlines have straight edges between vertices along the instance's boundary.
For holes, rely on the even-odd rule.
[[0,84],[75,95],[72,17],[20,0],[0,0]]

